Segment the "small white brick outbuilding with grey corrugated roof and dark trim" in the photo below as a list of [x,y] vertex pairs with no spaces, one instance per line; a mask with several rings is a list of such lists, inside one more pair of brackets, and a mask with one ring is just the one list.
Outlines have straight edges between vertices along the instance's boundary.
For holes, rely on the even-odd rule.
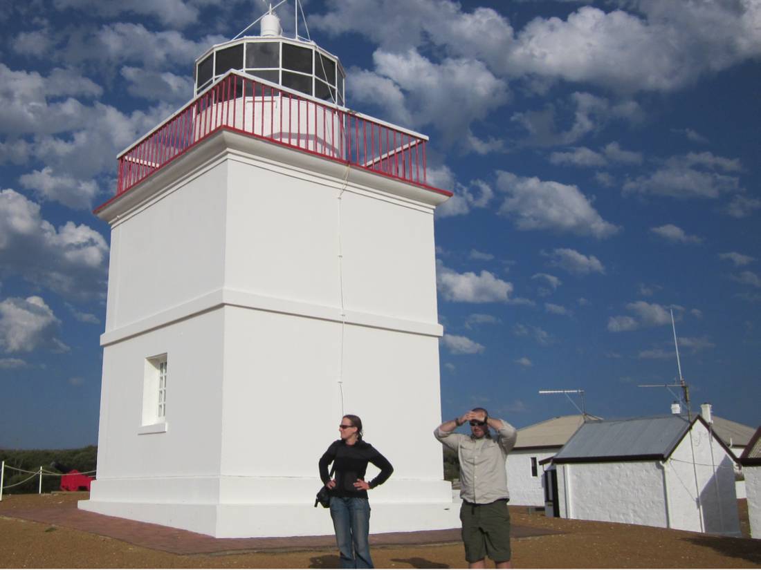
[[739,536],[735,461],[700,416],[587,422],[552,459],[559,515]]

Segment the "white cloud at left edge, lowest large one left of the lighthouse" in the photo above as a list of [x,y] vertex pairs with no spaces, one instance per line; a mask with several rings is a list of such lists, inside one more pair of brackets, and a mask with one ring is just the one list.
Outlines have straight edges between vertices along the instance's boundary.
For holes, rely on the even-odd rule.
[[47,348],[64,352],[68,347],[56,338],[60,323],[41,297],[8,297],[0,302],[0,350],[28,353]]

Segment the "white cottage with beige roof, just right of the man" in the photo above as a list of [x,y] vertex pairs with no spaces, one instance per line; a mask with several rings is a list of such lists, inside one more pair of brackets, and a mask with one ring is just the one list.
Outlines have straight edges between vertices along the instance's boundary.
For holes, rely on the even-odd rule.
[[545,505],[543,474],[546,460],[560,451],[585,420],[599,418],[579,413],[555,417],[518,429],[517,442],[508,454],[505,464],[511,505]]

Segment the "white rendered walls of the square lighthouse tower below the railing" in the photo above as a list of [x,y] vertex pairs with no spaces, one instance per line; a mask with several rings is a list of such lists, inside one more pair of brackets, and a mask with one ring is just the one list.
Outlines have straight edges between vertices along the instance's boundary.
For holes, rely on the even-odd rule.
[[[229,140],[272,150],[236,137],[209,138],[103,214],[98,480],[81,508],[218,537],[329,534],[311,506],[317,461],[356,413],[395,467],[371,492],[372,530],[457,526],[430,435],[436,201],[380,177],[382,190],[349,182],[344,166],[297,151],[275,149],[325,171],[213,154]],[[145,359],[163,353],[166,429],[140,433]]]

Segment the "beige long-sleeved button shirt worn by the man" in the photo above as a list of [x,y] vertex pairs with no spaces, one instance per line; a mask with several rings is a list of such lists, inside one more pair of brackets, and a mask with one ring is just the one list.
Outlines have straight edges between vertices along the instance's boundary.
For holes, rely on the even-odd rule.
[[438,441],[457,451],[460,458],[460,497],[463,501],[486,505],[498,499],[509,499],[505,461],[517,439],[515,428],[499,420],[502,428],[496,439],[475,439],[463,433],[444,432],[436,428]]

